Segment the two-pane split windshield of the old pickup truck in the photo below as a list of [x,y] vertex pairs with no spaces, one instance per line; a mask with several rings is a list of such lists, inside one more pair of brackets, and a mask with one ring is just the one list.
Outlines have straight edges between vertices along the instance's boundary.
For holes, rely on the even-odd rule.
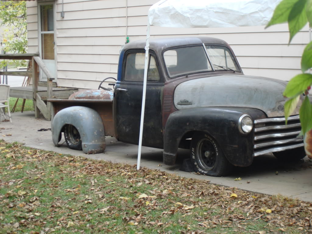
[[213,70],[240,71],[227,47],[207,45],[206,49],[210,62],[203,46],[181,47],[165,51],[163,59],[169,76],[176,77]]

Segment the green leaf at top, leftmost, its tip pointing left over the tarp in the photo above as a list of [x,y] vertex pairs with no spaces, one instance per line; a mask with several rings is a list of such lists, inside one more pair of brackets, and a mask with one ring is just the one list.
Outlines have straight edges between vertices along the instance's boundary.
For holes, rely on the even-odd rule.
[[267,27],[270,27],[274,24],[281,24],[286,23],[288,21],[288,16],[295,5],[296,2],[299,2],[300,0],[283,0],[281,1],[275,8],[273,16],[270,20],[270,22],[267,24]]

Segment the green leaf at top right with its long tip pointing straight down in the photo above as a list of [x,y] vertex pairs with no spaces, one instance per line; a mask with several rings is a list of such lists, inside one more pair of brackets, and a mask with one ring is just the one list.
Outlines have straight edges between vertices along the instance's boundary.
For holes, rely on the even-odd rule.
[[307,14],[305,11],[307,0],[299,0],[295,3],[293,8],[290,10],[288,16],[288,28],[289,28],[289,42],[296,35],[297,32],[302,29],[308,22]]

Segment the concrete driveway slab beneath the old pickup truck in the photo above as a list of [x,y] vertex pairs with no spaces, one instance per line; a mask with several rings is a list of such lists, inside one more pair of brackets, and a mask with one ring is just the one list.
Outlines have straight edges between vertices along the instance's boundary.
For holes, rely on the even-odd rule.
[[[85,155],[82,151],[67,148],[66,143],[59,148],[55,147],[51,140],[51,131],[37,131],[41,128],[50,128],[50,126],[49,121],[35,119],[32,111],[13,113],[12,124],[0,122],[0,139],[7,142],[17,141],[28,147],[51,150],[61,154],[83,155],[87,158],[120,163],[137,163],[138,146],[124,144],[111,137],[106,137],[107,147],[103,154]],[[9,134],[12,135],[8,136]],[[63,141],[64,139],[61,142]],[[183,158],[188,157],[188,150],[179,150],[177,164],[166,166],[162,161],[162,150],[142,147],[141,166],[176,173],[182,177],[209,180],[211,183],[225,186],[271,195],[281,194],[312,202],[312,161],[307,157],[298,164],[287,164],[278,162],[271,154],[259,156],[255,158],[250,167],[235,168],[231,176],[224,178],[180,171]],[[241,177],[242,180],[234,181],[238,177]]]

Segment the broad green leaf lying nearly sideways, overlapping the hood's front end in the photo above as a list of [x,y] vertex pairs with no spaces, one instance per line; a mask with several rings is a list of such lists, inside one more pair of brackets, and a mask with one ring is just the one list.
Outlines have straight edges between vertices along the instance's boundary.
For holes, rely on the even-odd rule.
[[308,73],[299,74],[293,77],[284,90],[283,95],[288,98],[293,98],[302,94],[308,86],[312,84],[312,75]]

